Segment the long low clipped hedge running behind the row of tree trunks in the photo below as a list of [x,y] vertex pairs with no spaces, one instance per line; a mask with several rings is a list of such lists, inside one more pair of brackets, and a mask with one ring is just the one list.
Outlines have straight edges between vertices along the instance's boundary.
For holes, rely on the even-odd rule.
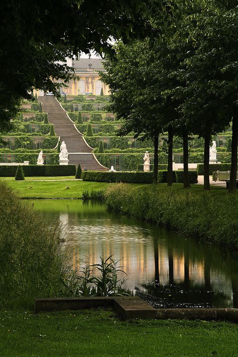
[[[168,171],[158,171],[158,183],[166,183]],[[197,171],[189,171],[190,183],[197,183]],[[82,171],[83,181],[98,182],[124,182],[128,184],[151,184],[153,183],[153,172],[109,172],[109,171]],[[183,171],[173,171],[173,182],[183,183]]]

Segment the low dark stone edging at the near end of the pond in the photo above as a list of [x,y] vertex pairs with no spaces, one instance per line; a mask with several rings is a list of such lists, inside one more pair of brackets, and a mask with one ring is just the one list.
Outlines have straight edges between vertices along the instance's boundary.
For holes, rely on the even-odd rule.
[[238,322],[238,309],[154,309],[139,297],[84,297],[35,299],[35,313],[112,307],[124,319],[189,319]]

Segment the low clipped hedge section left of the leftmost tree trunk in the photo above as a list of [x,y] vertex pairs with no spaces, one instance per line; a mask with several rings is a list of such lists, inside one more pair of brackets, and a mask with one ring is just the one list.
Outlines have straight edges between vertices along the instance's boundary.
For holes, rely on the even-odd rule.
[[151,184],[153,172],[109,172],[109,171],[82,171],[83,181],[124,182],[129,184]]

